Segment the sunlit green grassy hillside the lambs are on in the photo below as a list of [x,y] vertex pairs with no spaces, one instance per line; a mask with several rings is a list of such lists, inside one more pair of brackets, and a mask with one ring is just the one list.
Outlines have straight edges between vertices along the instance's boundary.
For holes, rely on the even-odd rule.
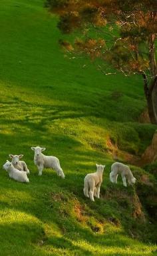
[[[139,153],[154,132],[137,122],[145,107],[142,81],[104,77],[88,59],[64,58],[56,19],[42,0],[1,0],[0,19],[0,164],[23,153],[31,170],[29,185],[1,170],[0,254],[155,255],[154,245],[129,235],[141,228],[132,218],[134,188],[108,181],[106,141]],[[65,180],[51,170],[37,176],[33,145],[59,157]],[[91,203],[82,181],[95,163],[106,171],[102,199]]]

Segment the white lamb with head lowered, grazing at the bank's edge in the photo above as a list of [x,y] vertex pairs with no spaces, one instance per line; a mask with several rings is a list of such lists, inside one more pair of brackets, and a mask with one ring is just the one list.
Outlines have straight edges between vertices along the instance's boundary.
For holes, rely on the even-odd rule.
[[110,172],[110,181],[112,183],[117,183],[118,174],[121,174],[122,176],[122,182],[124,187],[127,187],[126,185],[126,179],[128,179],[128,183],[130,185],[133,185],[136,182],[136,178],[132,175],[132,172],[130,171],[130,168],[128,165],[124,165],[123,163],[113,163],[111,165],[111,172]]

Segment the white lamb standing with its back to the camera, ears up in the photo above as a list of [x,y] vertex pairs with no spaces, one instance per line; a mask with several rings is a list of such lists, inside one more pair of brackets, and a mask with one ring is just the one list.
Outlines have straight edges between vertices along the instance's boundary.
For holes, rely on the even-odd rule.
[[100,185],[105,165],[97,165],[96,173],[88,173],[84,178],[84,195],[94,201],[94,197],[100,198]]

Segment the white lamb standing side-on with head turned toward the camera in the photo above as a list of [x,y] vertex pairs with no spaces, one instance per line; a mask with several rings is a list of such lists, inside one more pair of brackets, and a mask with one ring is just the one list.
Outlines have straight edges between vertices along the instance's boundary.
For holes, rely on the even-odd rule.
[[31,147],[31,149],[35,151],[34,163],[39,169],[39,175],[42,175],[42,171],[45,167],[53,168],[57,172],[57,175],[61,176],[63,179],[65,178],[65,174],[63,173],[63,169],[57,157],[47,156],[41,153],[45,151],[45,147]]

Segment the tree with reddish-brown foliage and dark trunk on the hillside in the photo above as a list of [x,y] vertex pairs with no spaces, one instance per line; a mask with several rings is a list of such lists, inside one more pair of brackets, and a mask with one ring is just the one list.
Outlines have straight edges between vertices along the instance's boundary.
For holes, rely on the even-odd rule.
[[59,15],[63,33],[82,32],[72,44],[61,42],[69,51],[100,58],[126,76],[142,76],[150,121],[157,124],[157,1],[47,0],[47,7]]

